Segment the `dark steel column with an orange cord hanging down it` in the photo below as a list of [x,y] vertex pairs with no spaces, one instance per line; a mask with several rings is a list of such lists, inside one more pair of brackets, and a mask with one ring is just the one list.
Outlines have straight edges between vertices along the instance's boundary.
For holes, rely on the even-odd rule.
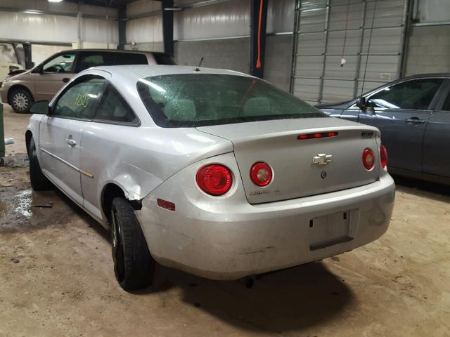
[[269,0],[250,0],[250,74],[261,79],[264,78],[268,2]]

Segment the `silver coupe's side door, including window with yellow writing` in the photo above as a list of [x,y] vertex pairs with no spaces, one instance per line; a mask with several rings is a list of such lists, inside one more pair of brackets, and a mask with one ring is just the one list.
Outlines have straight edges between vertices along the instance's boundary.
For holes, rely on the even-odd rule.
[[51,116],[44,117],[39,126],[44,173],[79,205],[83,201],[82,133],[94,117],[104,84],[101,77],[80,77],[53,100]]

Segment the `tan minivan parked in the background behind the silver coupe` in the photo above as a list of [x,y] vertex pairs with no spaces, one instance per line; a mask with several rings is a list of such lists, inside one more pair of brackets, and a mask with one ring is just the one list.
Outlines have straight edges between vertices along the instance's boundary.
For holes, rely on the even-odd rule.
[[0,82],[0,97],[15,112],[27,112],[31,103],[51,100],[78,72],[100,65],[174,65],[166,53],[73,49],[61,51],[31,70]]

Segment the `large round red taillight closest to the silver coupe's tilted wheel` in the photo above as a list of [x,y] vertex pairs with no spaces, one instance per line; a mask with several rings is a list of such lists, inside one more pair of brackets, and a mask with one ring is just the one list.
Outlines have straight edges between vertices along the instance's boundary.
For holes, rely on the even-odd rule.
[[198,170],[195,180],[200,190],[214,196],[228,192],[233,183],[230,170],[220,164],[203,166]]

